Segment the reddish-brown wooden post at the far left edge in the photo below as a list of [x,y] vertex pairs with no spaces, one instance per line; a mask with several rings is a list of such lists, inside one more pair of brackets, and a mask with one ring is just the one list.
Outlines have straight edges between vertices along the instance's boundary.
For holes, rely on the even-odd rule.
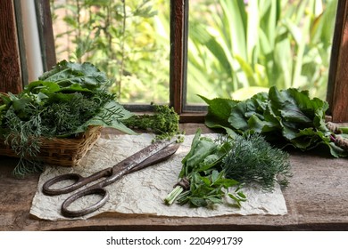
[[0,2],[0,92],[21,92],[21,59],[12,0]]

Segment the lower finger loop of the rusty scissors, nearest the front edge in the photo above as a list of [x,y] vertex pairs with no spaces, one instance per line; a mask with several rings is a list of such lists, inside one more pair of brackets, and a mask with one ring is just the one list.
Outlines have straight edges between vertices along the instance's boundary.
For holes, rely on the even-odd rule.
[[[68,207],[76,200],[78,200],[81,197],[86,197],[88,195],[100,195],[103,196],[103,198],[96,202],[93,205],[90,205],[84,209],[81,210],[69,210]],[[99,184],[95,184],[93,186],[88,187],[87,189],[82,189],[79,192],[76,192],[75,194],[71,195],[69,198],[67,198],[63,203],[62,203],[62,215],[65,217],[79,217],[88,213],[95,212],[95,210],[99,209],[109,199],[109,193],[99,187]]]

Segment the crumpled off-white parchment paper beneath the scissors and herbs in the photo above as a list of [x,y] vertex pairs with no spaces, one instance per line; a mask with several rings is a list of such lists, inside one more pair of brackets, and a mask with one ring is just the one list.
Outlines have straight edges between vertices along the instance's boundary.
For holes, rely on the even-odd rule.
[[[218,134],[204,134],[204,136],[217,136]],[[242,208],[231,205],[226,200],[224,205],[217,205],[214,209],[191,208],[188,205],[165,205],[163,199],[170,193],[178,181],[178,173],[181,169],[181,160],[191,148],[194,135],[185,136],[177,153],[169,160],[157,165],[149,166],[136,173],[125,175],[120,181],[114,182],[106,187],[110,193],[110,199],[95,213],[87,214],[78,219],[87,219],[107,212],[110,213],[134,213],[151,214],[169,217],[211,217],[221,215],[251,215],[269,214],[284,215],[287,213],[286,202],[279,186],[273,192],[261,191],[257,186],[244,188],[247,201],[242,203]],[[80,173],[88,176],[106,167],[111,167],[126,157],[136,153],[138,150],[151,144],[153,134],[139,135],[113,135],[99,139],[95,146],[87,152],[80,164],[71,167],[46,166],[41,174],[37,193],[33,199],[30,213],[37,218],[45,220],[68,219],[61,214],[61,205],[70,194],[48,197],[42,193],[42,185],[54,176],[63,173]],[[57,186],[58,187],[58,186]],[[91,200],[92,198],[92,200]],[[93,199],[95,198],[95,199]],[[77,202],[71,206],[72,209],[80,206],[87,206],[88,201],[95,201],[96,197]]]

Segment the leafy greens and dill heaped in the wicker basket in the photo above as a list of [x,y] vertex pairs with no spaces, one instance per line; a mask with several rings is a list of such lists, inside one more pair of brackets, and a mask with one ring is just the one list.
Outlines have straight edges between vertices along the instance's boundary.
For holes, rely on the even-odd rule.
[[42,170],[41,138],[73,138],[89,126],[134,133],[122,121],[132,116],[107,92],[108,79],[90,63],[62,60],[19,94],[0,94],[0,139],[20,157],[16,176]]

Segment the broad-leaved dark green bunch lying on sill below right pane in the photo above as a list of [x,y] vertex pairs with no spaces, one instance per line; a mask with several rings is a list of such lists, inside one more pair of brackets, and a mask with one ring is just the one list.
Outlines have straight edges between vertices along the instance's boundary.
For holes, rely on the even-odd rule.
[[212,129],[229,134],[259,133],[281,148],[291,145],[307,151],[322,147],[333,157],[348,156],[347,130],[334,132],[326,122],[327,102],[311,99],[308,91],[278,91],[273,86],[269,92],[242,101],[200,97],[208,104],[205,124]]

